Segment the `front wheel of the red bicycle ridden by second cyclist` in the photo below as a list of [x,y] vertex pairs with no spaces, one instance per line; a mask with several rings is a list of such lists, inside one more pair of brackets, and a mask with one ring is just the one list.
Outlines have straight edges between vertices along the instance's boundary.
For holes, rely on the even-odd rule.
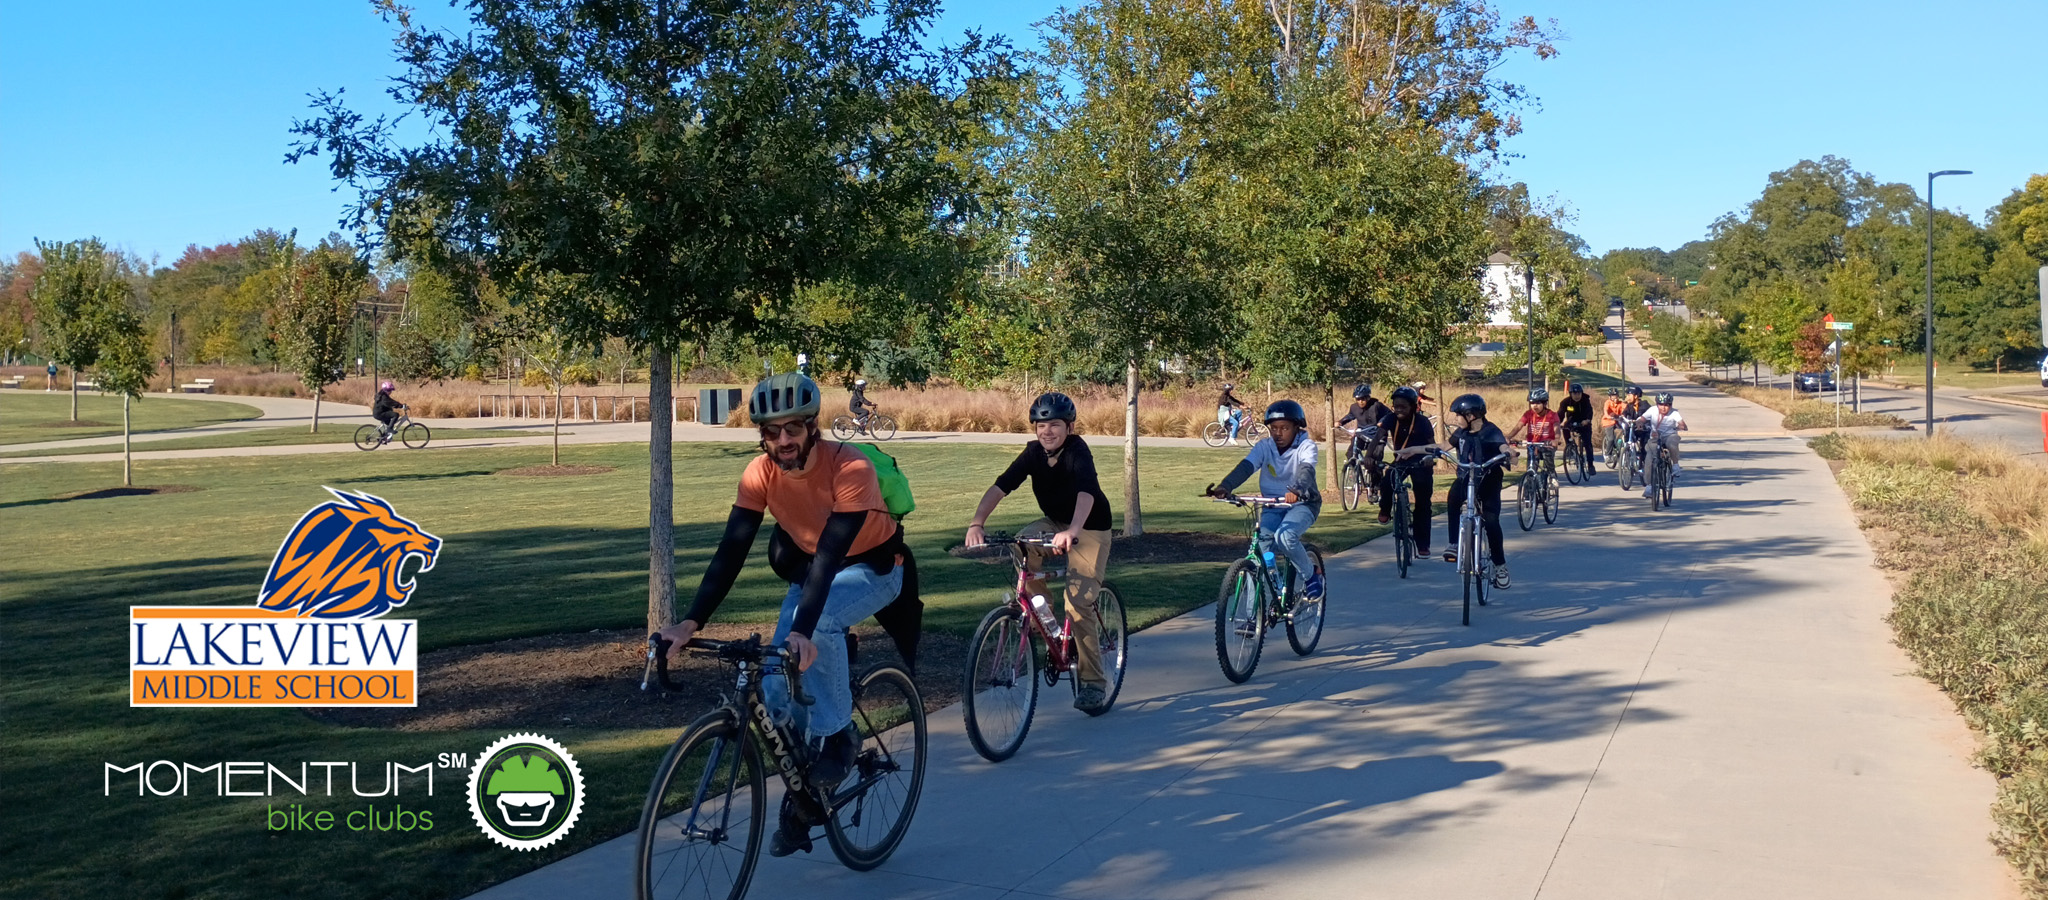
[[[967,670],[961,674],[967,742],[989,763],[1014,756],[1038,709],[1038,652],[1016,603],[981,617],[967,642]],[[983,713],[989,722],[981,722]]]

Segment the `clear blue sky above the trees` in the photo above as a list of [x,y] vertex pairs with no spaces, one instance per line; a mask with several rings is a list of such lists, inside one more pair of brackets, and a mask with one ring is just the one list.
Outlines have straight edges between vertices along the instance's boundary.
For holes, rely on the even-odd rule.
[[[954,0],[938,33],[1030,43],[1047,0]],[[1495,174],[1565,201],[1595,252],[1673,248],[1763,178],[1835,154],[1882,180],[1944,178],[1980,217],[2048,172],[2048,2],[1532,0],[1556,59],[1505,74],[1540,96]],[[436,18],[446,12],[434,12]],[[100,236],[174,260],[256,228],[334,228],[319,164],[287,166],[305,94],[381,100],[391,29],[369,2],[0,2],[0,252]]]

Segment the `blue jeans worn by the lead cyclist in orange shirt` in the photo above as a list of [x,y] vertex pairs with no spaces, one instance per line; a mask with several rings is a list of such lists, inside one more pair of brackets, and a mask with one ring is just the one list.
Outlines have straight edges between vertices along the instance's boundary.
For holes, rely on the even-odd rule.
[[[803,672],[803,693],[809,693],[815,703],[793,703],[788,681],[776,672],[762,679],[768,711],[776,720],[797,722],[797,728],[813,738],[825,738],[846,728],[854,720],[846,629],[887,607],[899,590],[903,590],[903,566],[889,570],[885,576],[874,574],[874,568],[866,564],[852,564],[840,570],[831,578],[831,590],[825,592],[825,611],[817,617],[817,627],[811,629],[811,644],[817,644],[817,658],[811,660],[811,670]],[[788,625],[797,617],[799,603],[803,603],[803,584],[791,584],[788,595],[782,597],[782,617],[774,625],[776,644],[788,638]]]

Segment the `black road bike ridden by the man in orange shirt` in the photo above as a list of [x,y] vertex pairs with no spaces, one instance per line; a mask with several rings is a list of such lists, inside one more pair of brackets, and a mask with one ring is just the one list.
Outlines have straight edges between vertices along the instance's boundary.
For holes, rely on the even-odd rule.
[[[647,670],[641,691],[655,685],[680,691],[668,674],[670,642],[647,636]],[[924,789],[924,697],[909,672],[891,662],[854,674],[854,726],[860,748],[840,785],[811,781],[813,752],[795,724],[768,709],[766,674],[784,674],[791,697],[811,705],[784,646],[692,640],[692,654],[713,656],[733,668],[733,693],[723,705],[690,724],[662,756],[639,816],[635,896],[739,900],[760,861],[768,820],[768,783],[762,750],[782,777],[786,802],[807,824],[823,824],[831,853],[848,869],[883,865],[918,810]],[[858,642],[846,636],[848,664]]]

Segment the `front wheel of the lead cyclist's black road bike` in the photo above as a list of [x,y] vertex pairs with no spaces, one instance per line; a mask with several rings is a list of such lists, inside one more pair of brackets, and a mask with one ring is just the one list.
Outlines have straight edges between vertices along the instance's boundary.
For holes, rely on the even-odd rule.
[[[698,759],[698,752],[702,752],[702,759]],[[688,797],[682,797],[688,806],[664,812],[672,787],[682,787],[688,793]],[[745,791],[745,797],[739,797],[739,791]],[[733,804],[735,800],[743,802],[745,808],[739,810]],[[739,822],[739,828],[745,830],[743,843],[731,841],[739,830],[733,822],[735,812],[745,814],[745,820]],[[686,818],[678,822],[676,816]],[[702,828],[711,820],[719,824]],[[743,898],[748,884],[754,879],[754,865],[760,863],[766,820],[768,781],[762,773],[760,746],[731,709],[705,713],[690,728],[684,728],[676,744],[668,748],[662,765],[655,767],[653,783],[647,787],[647,800],[641,804],[639,818],[639,857],[633,873],[635,896],[639,900],[668,900],[684,896],[684,890],[694,890],[694,886],[702,884],[705,892],[690,896]],[[698,834],[692,834],[692,830]],[[657,851],[657,843],[664,836],[676,841],[678,847]],[[735,851],[737,859],[731,859]],[[684,855],[690,857],[690,863],[682,871],[676,871],[676,863]],[[715,879],[719,884],[729,882],[729,888],[721,894],[713,886]],[[664,884],[672,888],[664,890]]]

